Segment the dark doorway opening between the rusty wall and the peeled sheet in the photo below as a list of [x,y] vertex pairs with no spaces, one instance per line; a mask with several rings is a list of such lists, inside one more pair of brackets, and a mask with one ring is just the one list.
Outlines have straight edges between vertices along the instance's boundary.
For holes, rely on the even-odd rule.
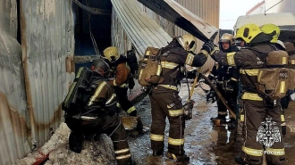
[[[74,13],[75,22],[75,55],[96,55],[94,44],[90,37],[90,30],[96,41],[98,52],[99,54],[102,54],[103,50],[112,44],[112,3],[110,0],[79,0],[79,2],[83,5],[101,9],[108,13],[89,14],[88,11],[72,2],[72,11]],[[79,70],[80,67],[90,67],[90,65],[91,62],[76,63],[75,70]]]

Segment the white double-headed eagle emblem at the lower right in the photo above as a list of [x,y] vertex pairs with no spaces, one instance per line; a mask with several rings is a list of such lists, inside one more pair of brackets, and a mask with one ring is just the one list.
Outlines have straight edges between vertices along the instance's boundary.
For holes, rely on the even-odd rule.
[[264,144],[266,148],[271,147],[275,142],[281,142],[280,129],[272,118],[266,118],[261,122],[257,132],[257,142]]

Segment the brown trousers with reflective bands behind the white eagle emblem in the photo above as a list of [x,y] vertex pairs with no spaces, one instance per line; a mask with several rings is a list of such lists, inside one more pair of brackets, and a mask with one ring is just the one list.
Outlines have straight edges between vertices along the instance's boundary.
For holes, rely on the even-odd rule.
[[249,164],[261,164],[262,155],[272,164],[284,163],[281,130],[281,105],[266,107],[263,101],[242,100],[244,144],[241,158]]

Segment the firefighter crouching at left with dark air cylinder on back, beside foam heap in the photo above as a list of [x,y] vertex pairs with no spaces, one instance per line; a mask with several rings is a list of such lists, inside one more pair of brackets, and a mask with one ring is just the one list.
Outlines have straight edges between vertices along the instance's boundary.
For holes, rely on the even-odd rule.
[[118,164],[131,164],[126,131],[117,115],[116,95],[104,79],[109,66],[100,60],[94,71],[80,68],[69,94],[63,101],[65,123],[72,130],[70,150],[80,153],[85,138],[110,136]]

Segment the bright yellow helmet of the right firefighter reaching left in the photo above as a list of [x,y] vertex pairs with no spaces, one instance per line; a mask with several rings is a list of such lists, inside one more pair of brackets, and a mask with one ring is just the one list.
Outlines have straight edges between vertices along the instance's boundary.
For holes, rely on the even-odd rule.
[[250,43],[253,38],[262,33],[256,24],[246,24],[238,29],[236,39],[242,38],[246,43]]

